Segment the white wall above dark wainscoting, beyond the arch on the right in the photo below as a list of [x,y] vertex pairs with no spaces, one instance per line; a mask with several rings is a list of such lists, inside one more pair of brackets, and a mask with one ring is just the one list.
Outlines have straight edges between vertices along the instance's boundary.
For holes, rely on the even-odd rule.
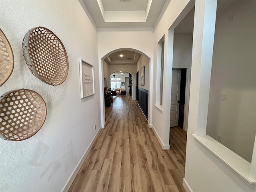
[[[141,68],[145,66],[145,71],[144,71],[144,85],[141,85],[140,84],[140,70]],[[137,71],[139,71],[139,87],[142,88],[142,89],[146,89],[148,90],[149,89],[149,59],[146,58],[144,55],[141,55],[140,56],[140,59],[138,60],[138,63],[137,63]],[[136,77],[136,76],[135,76]],[[135,84],[136,86],[136,84]]]

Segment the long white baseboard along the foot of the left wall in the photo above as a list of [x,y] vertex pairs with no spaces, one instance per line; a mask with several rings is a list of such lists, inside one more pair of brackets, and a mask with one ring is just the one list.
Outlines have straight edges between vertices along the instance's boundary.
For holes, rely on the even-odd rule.
[[98,132],[96,133],[96,135],[94,136],[92,142],[90,143],[90,145],[88,146],[88,148],[86,149],[86,151],[84,152],[82,158],[80,159],[80,161],[78,162],[78,164],[76,165],[76,167],[74,168],[73,172],[71,173],[70,177],[68,178],[67,182],[65,183],[65,185],[63,186],[61,192],[67,192],[68,189],[70,188],[72,182],[74,181],[74,179],[76,178],[76,175],[78,174],[78,171],[80,170],[82,164],[84,163],[85,158],[87,157],[88,153],[90,152],[94,142],[96,141],[96,138],[98,137],[100,133],[100,129],[98,130]]

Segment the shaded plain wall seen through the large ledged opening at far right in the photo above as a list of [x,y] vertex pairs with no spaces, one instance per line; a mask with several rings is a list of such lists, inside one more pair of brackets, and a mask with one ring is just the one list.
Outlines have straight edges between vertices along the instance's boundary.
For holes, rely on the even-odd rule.
[[217,15],[207,120],[207,134],[222,136],[248,162],[256,133],[255,8],[253,1],[236,1]]

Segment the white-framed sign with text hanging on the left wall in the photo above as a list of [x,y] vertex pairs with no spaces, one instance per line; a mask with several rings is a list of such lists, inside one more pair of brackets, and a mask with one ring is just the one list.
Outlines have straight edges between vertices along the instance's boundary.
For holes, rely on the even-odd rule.
[[94,67],[79,59],[81,98],[95,94],[94,90]]

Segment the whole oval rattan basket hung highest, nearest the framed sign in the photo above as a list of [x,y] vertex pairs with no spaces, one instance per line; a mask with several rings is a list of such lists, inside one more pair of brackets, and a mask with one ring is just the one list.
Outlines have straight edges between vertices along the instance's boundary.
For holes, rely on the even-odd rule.
[[60,39],[49,29],[30,29],[22,42],[28,68],[41,81],[62,84],[68,76],[68,56]]

